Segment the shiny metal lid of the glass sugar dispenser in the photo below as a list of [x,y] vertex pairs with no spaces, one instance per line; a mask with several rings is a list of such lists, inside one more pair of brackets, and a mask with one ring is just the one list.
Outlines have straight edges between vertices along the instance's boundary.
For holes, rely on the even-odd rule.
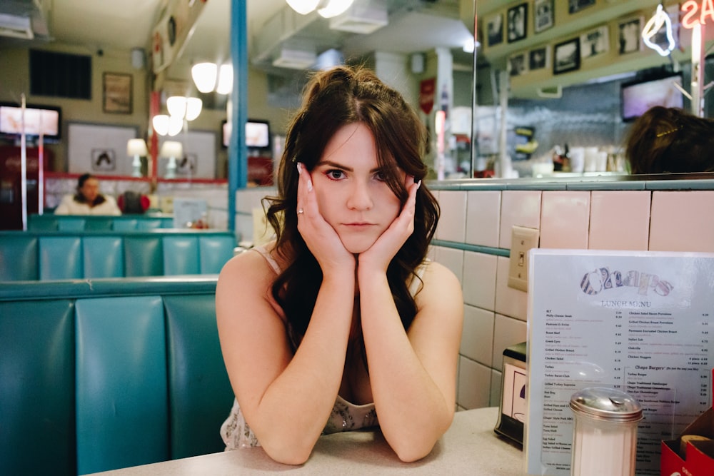
[[630,395],[614,388],[590,387],[573,393],[570,408],[593,420],[638,422],[642,420],[642,406]]

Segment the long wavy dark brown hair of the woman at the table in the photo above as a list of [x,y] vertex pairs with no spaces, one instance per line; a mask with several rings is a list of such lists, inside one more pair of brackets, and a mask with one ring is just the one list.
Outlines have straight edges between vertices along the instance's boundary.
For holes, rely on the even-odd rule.
[[[268,221],[276,231],[276,250],[289,263],[273,283],[272,293],[288,320],[293,342],[304,335],[322,283],[322,270],[297,228],[298,172],[296,162],[312,171],[332,136],[351,123],[362,123],[376,141],[377,161],[385,181],[402,205],[408,192],[394,166],[415,181],[426,177],[423,163],[426,127],[393,88],[363,67],[338,66],[320,71],[305,88],[301,108],[286,135],[278,169],[278,196],[266,198]],[[439,208],[422,183],[416,195],[414,231],[394,256],[387,278],[404,328],[416,315],[408,282],[428,250]]]

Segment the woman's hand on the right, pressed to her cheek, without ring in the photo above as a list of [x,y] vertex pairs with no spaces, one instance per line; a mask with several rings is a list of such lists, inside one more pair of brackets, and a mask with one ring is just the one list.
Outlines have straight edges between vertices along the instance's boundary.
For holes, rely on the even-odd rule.
[[406,242],[414,231],[414,207],[416,206],[416,191],[421,186],[421,181],[414,182],[413,176],[407,176],[406,188],[409,196],[401,210],[371,247],[360,253],[358,258],[359,269],[365,268],[385,271],[399,248]]

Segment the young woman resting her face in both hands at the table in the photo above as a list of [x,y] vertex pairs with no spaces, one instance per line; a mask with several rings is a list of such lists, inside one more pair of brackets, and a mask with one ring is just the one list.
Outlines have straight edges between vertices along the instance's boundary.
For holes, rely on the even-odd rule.
[[276,241],[218,278],[227,449],[302,464],[321,434],[378,425],[414,461],[451,425],[463,299],[426,259],[438,204],[425,146],[416,113],[370,71],[308,83],[268,208]]

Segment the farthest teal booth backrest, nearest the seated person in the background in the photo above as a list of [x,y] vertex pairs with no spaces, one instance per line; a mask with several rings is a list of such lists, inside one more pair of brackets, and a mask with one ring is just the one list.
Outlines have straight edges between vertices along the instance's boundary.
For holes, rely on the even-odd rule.
[[174,216],[146,215],[44,215],[28,216],[29,231],[142,231],[173,228]]

